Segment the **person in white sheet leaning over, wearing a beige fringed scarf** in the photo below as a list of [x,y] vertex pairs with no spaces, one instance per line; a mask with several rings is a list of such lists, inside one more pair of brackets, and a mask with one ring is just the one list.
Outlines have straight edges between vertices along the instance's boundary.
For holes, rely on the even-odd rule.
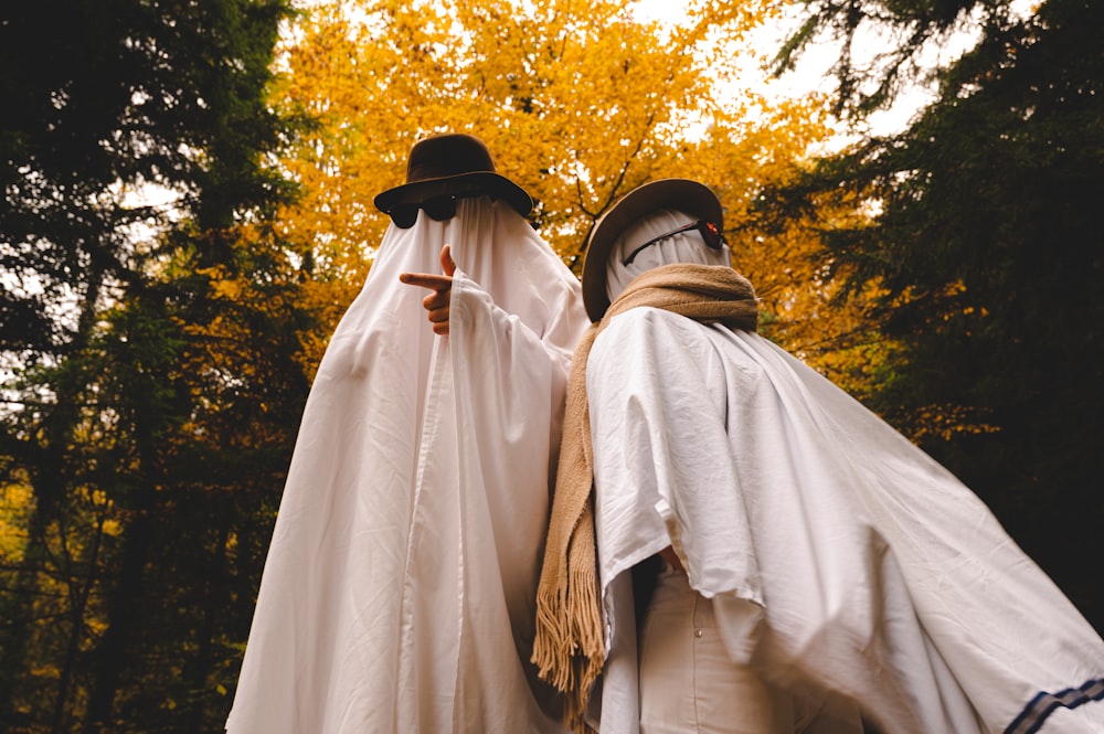
[[967,487],[756,333],[722,232],[668,179],[587,243],[532,657],[567,723],[1104,732],[1100,635]]

